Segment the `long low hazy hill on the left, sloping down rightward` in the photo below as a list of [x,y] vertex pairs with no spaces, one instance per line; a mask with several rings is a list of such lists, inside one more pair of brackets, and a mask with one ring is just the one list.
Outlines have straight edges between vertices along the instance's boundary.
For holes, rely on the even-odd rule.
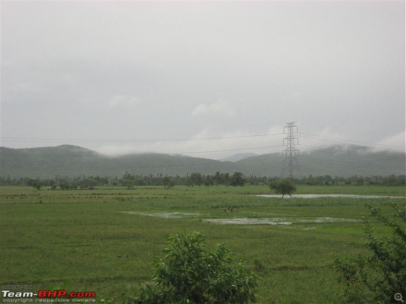
[[57,174],[76,177],[99,175],[121,177],[131,174],[186,175],[234,172],[231,162],[166,154],[105,156],[74,145],[12,149],[0,147],[0,175],[3,177],[53,178]]

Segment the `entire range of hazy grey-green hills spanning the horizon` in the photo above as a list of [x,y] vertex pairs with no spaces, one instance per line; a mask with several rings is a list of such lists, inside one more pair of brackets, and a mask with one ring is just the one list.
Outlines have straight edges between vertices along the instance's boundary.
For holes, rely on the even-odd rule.
[[[405,153],[357,145],[299,148],[300,174],[294,171],[295,176],[387,176],[404,175],[406,171]],[[254,155],[243,159],[241,155],[236,155],[229,159],[236,161],[151,153],[106,156],[74,145],[22,149],[0,147],[0,176],[53,178],[59,174],[69,177],[121,177],[126,171],[131,174],[172,176],[191,172],[207,175],[216,171],[270,177],[288,175],[282,153]]]

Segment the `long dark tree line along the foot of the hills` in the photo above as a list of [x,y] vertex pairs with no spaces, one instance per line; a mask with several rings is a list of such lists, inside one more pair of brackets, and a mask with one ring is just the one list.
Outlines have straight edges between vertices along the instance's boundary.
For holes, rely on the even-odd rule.
[[[56,175],[54,178],[10,178],[0,177],[0,185],[7,186],[33,186],[41,188],[49,186],[53,189],[85,189],[95,186],[111,185],[111,186],[126,186],[128,188],[135,186],[163,186],[171,188],[176,185],[188,187],[193,186],[244,186],[250,185],[268,185],[269,182],[279,180],[279,177],[267,177],[257,175],[244,175],[241,172],[215,174],[201,174],[199,172],[191,172],[184,176],[163,175],[163,174],[131,174],[125,172],[121,177],[111,176],[85,176],[69,177],[67,175]],[[389,176],[351,176],[351,177],[332,177],[330,175],[292,178],[294,184],[302,185],[386,185],[386,186],[404,186],[406,185],[406,175],[389,175]]]

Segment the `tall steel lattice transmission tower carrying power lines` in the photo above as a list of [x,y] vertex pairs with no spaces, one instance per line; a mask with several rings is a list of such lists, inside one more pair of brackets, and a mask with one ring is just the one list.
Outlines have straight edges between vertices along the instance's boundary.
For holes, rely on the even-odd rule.
[[[287,136],[283,139],[283,145],[286,145],[286,149],[282,151],[282,156],[285,157],[285,168],[284,171],[286,171],[287,168],[289,168],[289,178],[291,179],[293,177],[293,171],[296,170],[300,174],[299,170],[299,161],[297,158],[300,156],[299,155],[299,150],[296,149],[295,143],[299,144],[299,139],[295,137],[294,130],[296,128],[297,132],[297,126],[294,125],[293,123],[286,123],[286,126],[283,127],[283,133],[287,134]],[[287,129],[287,133],[286,133]]]

